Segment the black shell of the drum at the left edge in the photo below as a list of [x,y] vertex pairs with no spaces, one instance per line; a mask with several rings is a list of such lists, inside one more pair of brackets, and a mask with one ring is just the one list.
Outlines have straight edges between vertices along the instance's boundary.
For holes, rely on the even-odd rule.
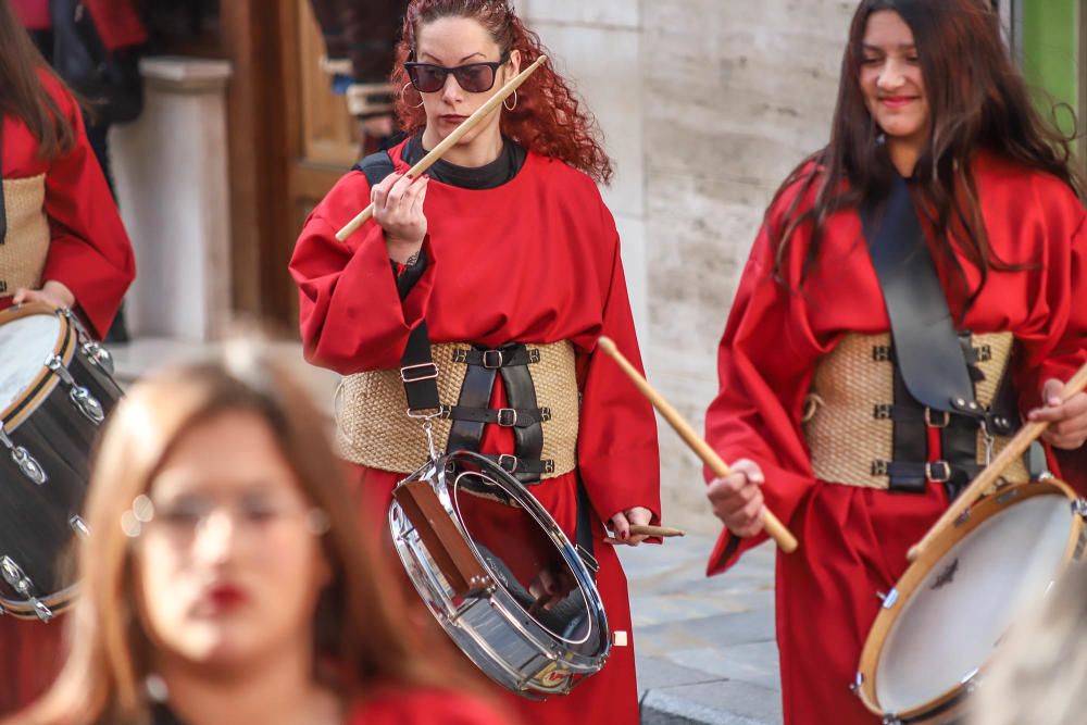
[[[62,360],[68,358],[65,368],[75,385],[87,388],[109,415],[122,391],[82,349],[79,335],[66,318],[62,317],[53,352]],[[49,372],[10,407],[5,421],[12,445],[25,448],[41,465],[45,483],[30,480],[12,455],[0,449],[0,557],[20,566],[39,601],[53,613],[64,609],[75,593],[74,543],[79,529],[73,517],[83,510],[90,453],[101,428],[73,403],[70,390],[57,373]],[[3,578],[0,608],[17,617],[38,616]]]

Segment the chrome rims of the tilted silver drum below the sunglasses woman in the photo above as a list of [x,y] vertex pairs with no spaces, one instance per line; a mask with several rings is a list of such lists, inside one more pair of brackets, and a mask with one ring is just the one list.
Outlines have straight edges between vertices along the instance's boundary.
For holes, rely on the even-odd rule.
[[[461,460],[466,459],[467,462],[471,462],[473,464],[478,464],[483,466],[485,470],[495,468],[493,462],[487,459],[486,457],[475,453],[474,451],[458,450],[440,455],[435,461],[428,461],[427,463],[423,464],[423,466],[421,466],[417,471],[415,471],[415,473],[411,474],[410,476],[401,480],[400,484],[398,484],[398,486],[408,482],[425,478],[429,475],[428,472],[433,471],[433,475],[440,480],[441,489],[439,491],[438,499],[440,500],[442,508],[446,510],[446,513],[453,521],[454,525],[457,526],[461,535],[464,537],[464,539],[470,543],[473,557],[475,557],[479,562],[479,564],[489,573],[491,571],[490,567],[487,565],[486,561],[484,561],[483,558],[479,555],[478,549],[475,547],[474,541],[467,535],[467,532],[464,529],[464,526],[462,525],[459,516],[452,509],[452,497],[450,496],[451,485],[446,480],[446,463],[450,460],[455,461],[458,459]],[[509,476],[509,473],[505,471],[502,471],[502,474]],[[490,605],[495,610],[497,610],[497,615],[500,617],[500,620],[509,628],[516,630],[525,641],[530,642],[534,647],[538,648],[540,657],[548,658],[552,664],[558,664],[559,662],[561,662],[562,666],[567,668],[566,679],[571,683],[571,685],[565,689],[559,689],[559,688],[546,689],[542,687],[535,686],[534,683],[536,680],[536,677],[540,673],[535,673],[527,677],[525,677],[524,673],[521,672],[508,673],[508,674],[516,674],[522,677],[522,684],[520,685],[518,689],[514,689],[514,691],[516,691],[518,695],[527,697],[536,697],[536,696],[547,697],[548,695],[555,695],[569,691],[574,685],[577,684],[577,682],[579,682],[585,676],[592,675],[599,672],[600,667],[603,666],[603,663],[607,662],[611,651],[611,641],[608,628],[608,615],[603,607],[603,600],[600,597],[600,591],[597,588],[596,583],[592,580],[588,567],[585,565],[585,562],[580,559],[580,555],[577,553],[577,549],[571,542],[565,532],[562,530],[562,528],[558,525],[558,523],[555,523],[553,516],[551,516],[550,512],[548,512],[547,509],[544,508],[544,505],[536,499],[536,497],[534,497],[528,491],[528,489],[523,484],[521,484],[516,479],[513,479],[513,483],[515,483],[520,488],[524,489],[525,495],[527,496],[525,501],[522,502],[518,500],[518,504],[524,505],[524,508],[528,510],[530,515],[533,515],[534,518],[537,520],[537,522],[539,522],[540,520],[548,522],[549,526],[552,527],[553,529],[553,534],[561,538],[561,541],[563,542],[562,546],[555,543],[553,538],[552,538],[552,543],[555,543],[557,548],[563,554],[564,560],[567,562],[569,565],[571,565],[571,568],[575,571],[575,576],[578,579],[578,587],[582,590],[583,597],[585,597],[587,609],[589,610],[590,614],[592,614],[594,617],[596,618],[597,626],[599,626],[601,632],[600,634],[601,641],[603,641],[602,651],[597,654],[590,655],[577,651],[572,651],[570,649],[571,646],[569,646],[565,640],[557,637],[550,630],[548,630],[547,627],[542,626],[537,622],[535,626],[539,629],[541,634],[544,634],[547,637],[546,641],[553,642],[555,646],[558,646],[563,650],[564,653],[555,658],[553,657],[553,650],[549,650],[549,648],[546,646],[546,642],[541,642],[539,637],[535,633],[526,630],[525,627],[522,626],[522,624],[518,622],[517,617],[514,615],[515,612],[509,611],[507,602],[504,601],[505,598],[509,598],[511,602],[516,605],[516,611],[523,611],[523,608],[521,608],[520,604],[517,604],[515,601],[512,600],[512,596],[509,595],[509,592],[507,592],[504,588],[499,587],[499,591],[501,591],[502,595],[504,595],[502,599],[496,599],[496,593],[488,593],[486,597],[479,598],[480,600],[489,600]],[[429,580],[426,580],[425,576],[417,577],[414,575],[412,571],[412,564],[410,564],[408,561],[408,558],[412,557],[413,554],[407,550],[410,548],[410,545],[403,540],[403,537],[398,532],[400,524],[397,523],[396,521],[397,516],[395,514],[399,514],[400,517],[404,516],[403,511],[398,505],[396,499],[393,499],[392,503],[389,507],[389,525],[392,532],[393,545],[397,549],[398,555],[400,557],[401,563],[404,565],[408,578],[411,579],[412,585],[418,591],[420,597],[427,605],[427,609],[430,610],[430,613],[438,621],[439,625],[442,627],[442,629],[447,632],[447,634],[450,635],[450,637],[453,639],[454,643],[457,643],[459,648],[460,648],[459,637],[468,637],[472,639],[473,642],[479,646],[480,649],[484,649],[489,653],[490,660],[489,662],[486,663],[487,666],[485,666],[479,662],[475,662],[474,658],[472,658],[467,652],[465,652],[465,654],[468,655],[470,659],[473,659],[476,666],[478,666],[482,671],[484,671],[485,674],[490,676],[492,679],[497,679],[490,674],[488,666],[495,666],[503,671],[508,670],[509,666],[504,658],[502,657],[501,653],[493,652],[493,648],[490,646],[490,642],[482,640],[478,634],[474,629],[468,629],[461,626],[460,623],[455,621],[455,618],[451,620],[449,612],[446,611],[446,608],[442,607],[441,601],[439,601],[442,599],[441,592],[433,591],[432,583]],[[541,527],[546,529],[546,526],[541,525]],[[567,551],[565,551],[565,549],[569,549],[569,554],[574,558],[573,561],[571,561],[570,555],[567,555]],[[586,585],[588,585],[589,591],[586,591]],[[573,646],[576,646],[576,643]],[[461,649],[463,650],[463,648]],[[498,682],[500,684],[503,684],[501,683],[501,680]]]

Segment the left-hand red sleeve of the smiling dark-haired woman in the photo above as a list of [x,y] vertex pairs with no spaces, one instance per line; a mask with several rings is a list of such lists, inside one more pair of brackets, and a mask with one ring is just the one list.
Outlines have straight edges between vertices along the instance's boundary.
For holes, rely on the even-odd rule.
[[[788,200],[784,200],[780,208],[787,205]],[[796,234],[790,247],[802,255],[805,245],[800,242],[807,235],[803,229]],[[759,464],[766,480],[766,507],[786,526],[814,485],[800,427],[817,355],[807,320],[804,297],[774,277],[774,253],[764,227],[751,250],[721,339],[721,390],[705,415],[705,437],[727,463],[750,459]],[[713,478],[709,471],[705,476]],[[724,571],[740,553],[765,539],[765,534],[740,539],[724,529],[708,573]]]

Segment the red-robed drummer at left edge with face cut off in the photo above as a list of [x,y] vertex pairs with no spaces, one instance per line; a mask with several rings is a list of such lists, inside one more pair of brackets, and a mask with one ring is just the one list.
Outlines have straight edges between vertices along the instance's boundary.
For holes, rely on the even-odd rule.
[[[0,0],[0,309],[73,308],[101,338],[135,274],[132,247],[79,108],[9,0]],[[0,713],[48,685],[62,627],[63,618],[0,617]]]

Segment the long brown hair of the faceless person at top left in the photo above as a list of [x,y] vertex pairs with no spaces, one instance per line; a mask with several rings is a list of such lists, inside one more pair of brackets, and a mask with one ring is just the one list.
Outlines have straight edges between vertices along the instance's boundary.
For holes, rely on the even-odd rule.
[[[10,0],[0,0],[0,113],[22,120],[38,140],[39,155],[52,159],[72,149],[75,129],[41,85],[38,73],[42,70],[57,78]],[[63,85],[60,78],[57,83]]]

